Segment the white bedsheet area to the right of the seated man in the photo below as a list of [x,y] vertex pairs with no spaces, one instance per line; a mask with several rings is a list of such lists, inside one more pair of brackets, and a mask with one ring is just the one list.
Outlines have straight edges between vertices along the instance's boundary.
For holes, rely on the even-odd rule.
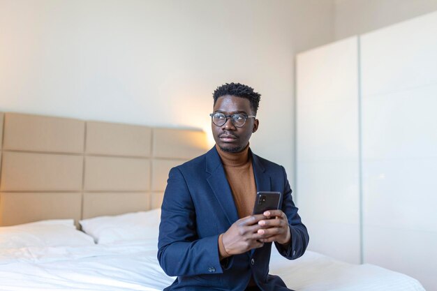
[[269,273],[279,275],[292,290],[425,291],[414,278],[373,264],[348,264],[311,251],[290,261],[273,248]]

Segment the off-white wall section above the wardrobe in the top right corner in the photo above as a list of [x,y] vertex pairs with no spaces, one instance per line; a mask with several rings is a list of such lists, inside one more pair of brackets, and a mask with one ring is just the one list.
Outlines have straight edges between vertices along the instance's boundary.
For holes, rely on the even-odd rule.
[[437,10],[437,0],[334,0],[334,3],[337,40]]

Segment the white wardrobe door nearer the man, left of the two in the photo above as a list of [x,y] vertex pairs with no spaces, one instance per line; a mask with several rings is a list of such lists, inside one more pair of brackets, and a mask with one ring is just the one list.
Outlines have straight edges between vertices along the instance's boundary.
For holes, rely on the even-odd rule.
[[358,47],[297,55],[297,206],[309,249],[360,263]]

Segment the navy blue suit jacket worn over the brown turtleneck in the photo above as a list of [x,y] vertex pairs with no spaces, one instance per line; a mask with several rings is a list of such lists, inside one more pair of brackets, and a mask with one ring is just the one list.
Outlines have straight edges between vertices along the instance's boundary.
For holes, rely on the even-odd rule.
[[[281,209],[288,217],[291,243],[276,244],[293,260],[304,254],[309,236],[292,202],[286,171],[252,154],[257,191],[283,193]],[[253,193],[255,195],[255,193]],[[216,148],[170,170],[159,225],[158,260],[169,276],[165,290],[242,291],[251,276],[261,290],[289,290],[278,276],[269,275],[272,243],[220,262],[218,235],[239,219],[232,192]]]

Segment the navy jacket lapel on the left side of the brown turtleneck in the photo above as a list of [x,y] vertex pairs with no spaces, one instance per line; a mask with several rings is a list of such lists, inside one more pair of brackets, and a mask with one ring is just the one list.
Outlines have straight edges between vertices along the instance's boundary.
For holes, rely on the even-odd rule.
[[210,174],[207,177],[208,184],[214,195],[216,195],[217,201],[228,218],[229,224],[232,225],[232,223],[238,220],[237,208],[235,207],[234,197],[232,197],[228,179],[226,179],[225,170],[221,164],[216,147],[208,151],[206,158],[206,170]]

